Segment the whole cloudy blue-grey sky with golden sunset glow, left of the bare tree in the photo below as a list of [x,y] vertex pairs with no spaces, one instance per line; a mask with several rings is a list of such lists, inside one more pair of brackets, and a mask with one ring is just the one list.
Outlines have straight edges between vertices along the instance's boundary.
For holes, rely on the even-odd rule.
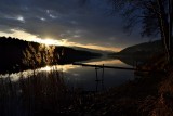
[[0,36],[59,46],[119,51],[148,41],[139,28],[123,31],[124,20],[108,0],[0,0]]

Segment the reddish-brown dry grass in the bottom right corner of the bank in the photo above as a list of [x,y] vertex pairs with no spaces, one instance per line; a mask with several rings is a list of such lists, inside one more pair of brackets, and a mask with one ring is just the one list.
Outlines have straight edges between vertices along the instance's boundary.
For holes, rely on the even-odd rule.
[[151,116],[173,116],[173,72],[161,82],[158,93]]

